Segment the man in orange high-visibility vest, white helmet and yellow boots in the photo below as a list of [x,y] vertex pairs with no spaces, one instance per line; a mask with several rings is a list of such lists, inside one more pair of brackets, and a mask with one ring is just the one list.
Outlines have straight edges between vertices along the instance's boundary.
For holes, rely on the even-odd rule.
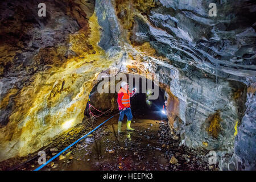
[[118,133],[122,133],[122,121],[123,117],[126,115],[127,116],[127,122],[126,122],[126,129],[133,131],[130,127],[131,125],[131,119],[133,119],[133,115],[131,114],[131,102],[130,102],[130,97],[133,97],[136,88],[133,90],[133,92],[129,92],[129,85],[127,82],[123,81],[121,82],[121,89],[119,90],[117,94],[117,103],[118,103],[118,109],[122,110],[120,115],[119,115],[119,121],[118,121]]

